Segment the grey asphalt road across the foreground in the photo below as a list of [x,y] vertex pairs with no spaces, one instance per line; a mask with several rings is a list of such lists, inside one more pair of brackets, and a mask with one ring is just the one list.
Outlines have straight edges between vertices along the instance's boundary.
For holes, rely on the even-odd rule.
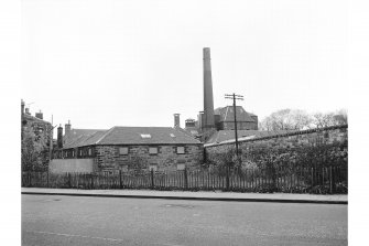
[[22,245],[347,245],[347,205],[23,194]]

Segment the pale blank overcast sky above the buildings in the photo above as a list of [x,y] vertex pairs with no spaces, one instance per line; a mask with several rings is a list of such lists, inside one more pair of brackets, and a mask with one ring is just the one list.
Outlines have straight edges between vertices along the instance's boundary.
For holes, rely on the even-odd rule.
[[345,1],[26,0],[21,97],[73,128],[184,126],[210,47],[215,107],[347,108],[347,18]]

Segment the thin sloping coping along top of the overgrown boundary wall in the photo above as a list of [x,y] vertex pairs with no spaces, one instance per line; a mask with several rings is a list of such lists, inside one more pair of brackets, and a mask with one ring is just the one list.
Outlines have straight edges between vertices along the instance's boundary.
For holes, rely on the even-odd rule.
[[[338,125],[338,126],[322,127],[322,128],[314,128],[314,129],[307,129],[307,130],[297,130],[297,131],[286,132],[286,133],[276,133],[276,135],[259,137],[259,138],[257,137],[257,138],[252,138],[252,139],[239,140],[238,142],[239,143],[253,142],[253,141],[273,139],[273,138],[306,135],[306,133],[314,133],[314,132],[321,132],[321,131],[327,131],[327,130],[337,130],[337,129],[347,129],[347,128],[348,128],[348,125]],[[219,143],[209,143],[209,145],[204,145],[204,148],[213,148],[213,147],[218,147],[218,146],[234,145],[235,142],[236,142],[236,140],[229,140],[227,142],[219,142]]]

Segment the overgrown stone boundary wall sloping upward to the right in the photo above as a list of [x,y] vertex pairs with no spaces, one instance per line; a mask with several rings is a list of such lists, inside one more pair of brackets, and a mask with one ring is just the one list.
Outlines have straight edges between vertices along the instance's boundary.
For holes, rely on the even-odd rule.
[[[265,162],[347,165],[347,125],[303,130],[239,142],[242,163]],[[235,142],[206,146],[206,160],[219,159],[219,153],[235,151]]]

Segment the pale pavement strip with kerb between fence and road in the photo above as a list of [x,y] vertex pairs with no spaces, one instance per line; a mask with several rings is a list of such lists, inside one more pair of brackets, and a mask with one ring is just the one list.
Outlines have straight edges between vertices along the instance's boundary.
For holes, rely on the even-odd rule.
[[78,190],[78,189],[45,189],[45,188],[22,188],[21,192],[22,194],[35,194],[35,195],[198,200],[198,201],[229,201],[229,202],[348,204],[347,194],[318,195],[318,194],[292,194],[292,193],[237,193],[237,192],[221,192],[221,191],[188,192],[188,191],[153,191],[153,190]]

